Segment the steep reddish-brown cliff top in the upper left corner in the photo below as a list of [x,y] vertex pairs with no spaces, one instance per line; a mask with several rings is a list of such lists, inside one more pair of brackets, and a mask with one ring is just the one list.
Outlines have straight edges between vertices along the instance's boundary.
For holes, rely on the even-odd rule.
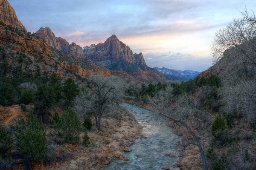
[[18,20],[15,10],[8,0],[0,0],[0,21],[17,29],[26,31],[25,26]]

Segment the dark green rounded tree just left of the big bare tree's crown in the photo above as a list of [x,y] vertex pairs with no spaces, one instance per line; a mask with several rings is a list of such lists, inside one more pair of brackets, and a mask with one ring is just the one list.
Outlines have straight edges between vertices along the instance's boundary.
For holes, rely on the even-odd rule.
[[68,78],[63,85],[63,97],[67,105],[70,105],[76,95],[79,94],[79,87],[71,78]]

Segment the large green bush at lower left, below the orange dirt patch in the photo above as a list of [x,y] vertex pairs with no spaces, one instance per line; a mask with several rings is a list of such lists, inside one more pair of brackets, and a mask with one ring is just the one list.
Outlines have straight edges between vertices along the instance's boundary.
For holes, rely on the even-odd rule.
[[30,112],[26,115],[26,122],[18,122],[15,133],[17,150],[30,161],[44,161],[47,156],[46,130],[43,122],[38,122],[36,116]]

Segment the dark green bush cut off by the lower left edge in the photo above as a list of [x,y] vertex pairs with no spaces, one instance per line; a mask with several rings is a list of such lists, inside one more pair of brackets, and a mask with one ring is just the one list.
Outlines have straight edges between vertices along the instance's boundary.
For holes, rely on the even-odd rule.
[[12,149],[12,136],[0,125],[0,157],[6,158]]

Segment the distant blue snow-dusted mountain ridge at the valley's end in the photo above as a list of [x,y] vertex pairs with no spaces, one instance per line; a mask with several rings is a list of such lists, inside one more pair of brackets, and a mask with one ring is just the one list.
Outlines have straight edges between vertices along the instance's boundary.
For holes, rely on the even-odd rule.
[[154,67],[157,71],[163,73],[164,75],[171,76],[173,80],[187,81],[189,79],[194,79],[196,76],[200,74],[200,72],[193,70],[177,70],[177,69],[167,69],[165,67],[158,68]]

